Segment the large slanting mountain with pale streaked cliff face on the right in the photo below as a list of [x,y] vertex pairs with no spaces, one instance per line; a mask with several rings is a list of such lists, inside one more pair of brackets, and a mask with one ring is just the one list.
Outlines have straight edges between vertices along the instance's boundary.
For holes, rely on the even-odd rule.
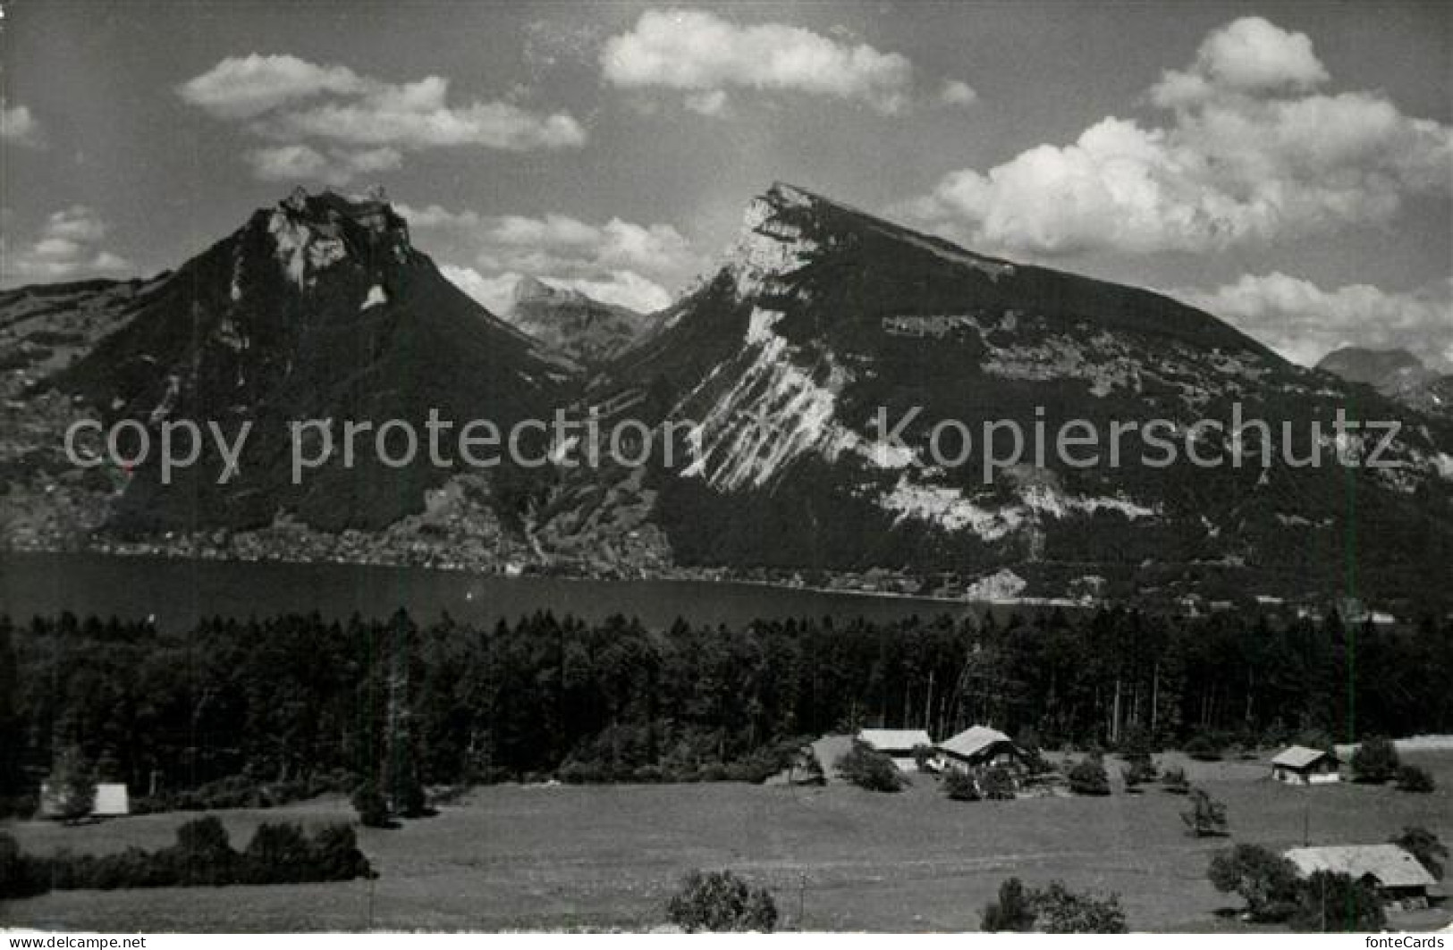
[[[985,478],[974,456],[934,462],[936,427],[947,455],[960,442],[944,420],[975,440],[982,420],[1032,433],[1081,418],[1107,440],[1113,423],[1162,418],[1184,436],[1239,402],[1309,444],[1312,420],[1329,427],[1351,404],[1327,375],[1148,291],[975,254],[779,183],[750,205],[724,266],[663,318],[590,398],[680,424],[700,449],[644,479],[618,474],[631,519],[602,514],[599,485],[581,490],[588,506],[567,492],[542,523],[558,543],[600,548],[645,521],[699,568],[1324,603],[1422,596],[1453,559],[1453,433],[1380,398],[1357,411],[1411,423],[1392,471],[1263,471],[1250,440],[1213,431],[1197,449],[1242,465],[1049,458]],[[878,437],[879,411],[889,429],[910,420],[902,444]]]

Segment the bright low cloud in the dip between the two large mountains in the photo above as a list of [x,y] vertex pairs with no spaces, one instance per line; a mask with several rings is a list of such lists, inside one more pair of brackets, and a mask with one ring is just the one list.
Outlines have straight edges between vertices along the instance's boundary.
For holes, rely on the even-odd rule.
[[702,267],[692,243],[668,224],[622,218],[593,224],[571,215],[482,215],[429,205],[395,205],[432,251],[458,261],[440,270],[500,312],[522,276],[574,288],[606,304],[654,311],[671,302]]

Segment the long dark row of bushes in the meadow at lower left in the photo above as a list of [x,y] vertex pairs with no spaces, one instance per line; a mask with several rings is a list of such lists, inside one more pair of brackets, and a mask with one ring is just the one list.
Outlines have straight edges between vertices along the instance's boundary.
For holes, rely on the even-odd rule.
[[46,890],[115,890],[122,888],[219,888],[372,877],[349,825],[327,825],[308,837],[295,824],[262,824],[243,851],[235,851],[215,815],[177,828],[169,848],[126,848],[115,854],[49,857],[20,851],[0,835],[0,898]]

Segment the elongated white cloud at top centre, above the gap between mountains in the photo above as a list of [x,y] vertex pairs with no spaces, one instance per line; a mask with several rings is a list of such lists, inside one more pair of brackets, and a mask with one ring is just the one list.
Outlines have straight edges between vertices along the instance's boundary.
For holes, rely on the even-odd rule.
[[[721,109],[728,89],[833,96],[895,113],[914,84],[912,62],[901,54],[783,23],[738,26],[699,10],[642,13],[634,29],[606,41],[600,62],[613,86],[679,90],[708,113]],[[715,109],[702,109],[708,103]]]

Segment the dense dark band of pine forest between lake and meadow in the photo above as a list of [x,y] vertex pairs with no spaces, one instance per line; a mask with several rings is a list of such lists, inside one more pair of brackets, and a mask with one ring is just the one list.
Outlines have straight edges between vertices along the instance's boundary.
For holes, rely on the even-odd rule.
[[989,723],[1051,748],[1132,735],[1329,742],[1453,732],[1450,681],[1449,620],[1383,629],[1107,609],[651,630],[549,613],[418,626],[400,613],[215,619],[163,635],[64,614],[0,622],[0,796],[19,808],[58,757],[128,783],[142,806],[199,808],[384,773],[426,784],[760,780],[805,736],[863,725],[940,738]]

